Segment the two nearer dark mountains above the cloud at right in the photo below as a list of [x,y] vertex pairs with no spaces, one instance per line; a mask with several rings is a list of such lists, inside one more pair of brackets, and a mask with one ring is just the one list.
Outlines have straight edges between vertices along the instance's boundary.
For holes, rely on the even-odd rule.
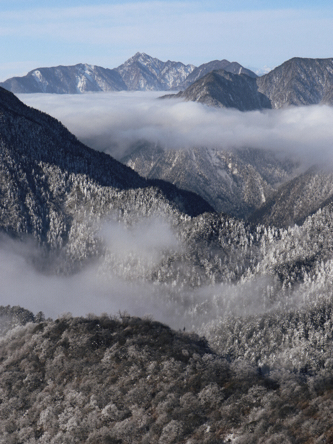
[[185,81],[184,91],[164,97],[180,97],[241,111],[284,105],[333,104],[333,58],[294,57],[261,77],[239,74],[218,69],[189,86]]

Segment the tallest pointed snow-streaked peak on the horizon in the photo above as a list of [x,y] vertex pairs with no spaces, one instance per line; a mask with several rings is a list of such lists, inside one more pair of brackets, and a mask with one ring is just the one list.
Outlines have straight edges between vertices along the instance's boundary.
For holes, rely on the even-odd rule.
[[137,52],[115,69],[129,90],[166,91],[177,88],[194,68],[194,65],[184,65],[170,60],[162,62],[145,53]]

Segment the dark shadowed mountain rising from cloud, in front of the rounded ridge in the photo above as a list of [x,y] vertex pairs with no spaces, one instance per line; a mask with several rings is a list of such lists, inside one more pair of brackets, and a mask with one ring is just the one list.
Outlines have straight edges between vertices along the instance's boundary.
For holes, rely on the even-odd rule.
[[237,108],[251,111],[270,108],[270,101],[258,90],[256,79],[245,74],[231,74],[220,69],[196,80],[184,92],[165,95],[163,98],[184,98],[219,108]]

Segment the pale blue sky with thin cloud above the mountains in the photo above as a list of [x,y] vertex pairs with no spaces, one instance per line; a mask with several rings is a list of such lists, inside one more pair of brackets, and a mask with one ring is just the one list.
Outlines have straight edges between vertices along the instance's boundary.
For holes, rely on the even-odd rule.
[[41,66],[115,67],[135,52],[274,67],[332,57],[332,1],[0,0],[0,80]]

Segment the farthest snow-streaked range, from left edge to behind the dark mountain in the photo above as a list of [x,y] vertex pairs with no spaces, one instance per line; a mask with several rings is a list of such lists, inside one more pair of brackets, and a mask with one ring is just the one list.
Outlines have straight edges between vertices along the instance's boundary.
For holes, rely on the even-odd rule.
[[[137,52],[114,69],[79,63],[74,66],[37,68],[23,77],[12,77],[0,86],[19,93],[47,92],[79,94],[88,91],[167,91],[184,88],[213,69],[223,68],[236,74],[256,74],[239,63],[214,60],[200,67],[181,62],[162,62]],[[192,76],[190,77],[190,75]],[[186,80],[186,83],[184,83]]]

